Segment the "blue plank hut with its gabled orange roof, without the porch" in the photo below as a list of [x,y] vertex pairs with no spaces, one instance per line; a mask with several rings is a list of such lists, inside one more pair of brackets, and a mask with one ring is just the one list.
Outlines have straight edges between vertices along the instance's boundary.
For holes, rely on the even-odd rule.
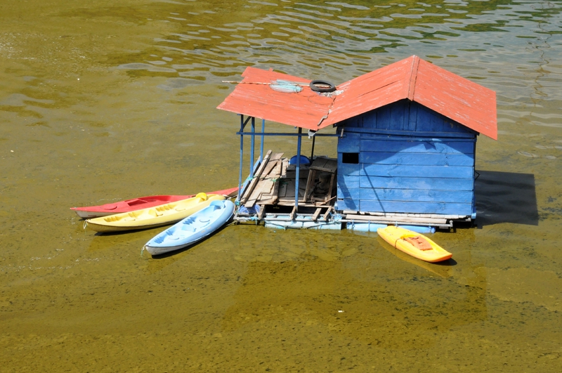
[[476,139],[497,138],[495,93],[415,56],[374,73],[376,86],[344,85],[379,97],[337,124],[336,209],[381,222],[475,218]]

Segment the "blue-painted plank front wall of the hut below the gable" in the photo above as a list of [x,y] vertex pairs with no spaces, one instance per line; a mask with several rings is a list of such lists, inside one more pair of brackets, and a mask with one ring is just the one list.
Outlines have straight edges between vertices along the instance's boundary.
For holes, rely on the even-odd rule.
[[476,134],[412,106],[409,116],[400,102],[348,120],[338,140],[339,210],[473,213]]

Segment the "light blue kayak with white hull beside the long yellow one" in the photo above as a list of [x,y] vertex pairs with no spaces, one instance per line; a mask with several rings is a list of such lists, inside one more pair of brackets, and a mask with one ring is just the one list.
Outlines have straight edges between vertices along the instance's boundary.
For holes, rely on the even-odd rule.
[[152,255],[182,249],[214,233],[228,222],[233,214],[233,202],[228,199],[213,201],[208,207],[152,237],[144,248]]

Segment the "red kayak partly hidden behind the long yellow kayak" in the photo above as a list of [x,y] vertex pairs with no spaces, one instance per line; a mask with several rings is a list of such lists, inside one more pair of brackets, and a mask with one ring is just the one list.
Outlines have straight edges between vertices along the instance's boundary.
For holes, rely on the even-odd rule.
[[[230,188],[223,190],[216,190],[208,192],[208,195],[226,195],[226,197],[235,197],[238,188]],[[167,204],[170,202],[180,201],[181,199],[188,199],[195,197],[195,195],[151,195],[148,197],[139,197],[133,199],[126,199],[124,201],[112,202],[108,204],[100,204],[99,206],[88,207],[71,207],[78,216],[84,219],[99,218],[100,216],[107,216],[113,214],[120,214],[122,212],[136,211],[146,209],[148,207],[159,206],[160,204]]]

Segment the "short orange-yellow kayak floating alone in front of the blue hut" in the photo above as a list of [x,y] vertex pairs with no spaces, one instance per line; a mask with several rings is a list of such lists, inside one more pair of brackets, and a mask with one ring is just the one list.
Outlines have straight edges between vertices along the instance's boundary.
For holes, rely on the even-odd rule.
[[413,230],[388,225],[386,228],[377,229],[377,233],[396,249],[422,261],[435,263],[452,257],[449,251]]

